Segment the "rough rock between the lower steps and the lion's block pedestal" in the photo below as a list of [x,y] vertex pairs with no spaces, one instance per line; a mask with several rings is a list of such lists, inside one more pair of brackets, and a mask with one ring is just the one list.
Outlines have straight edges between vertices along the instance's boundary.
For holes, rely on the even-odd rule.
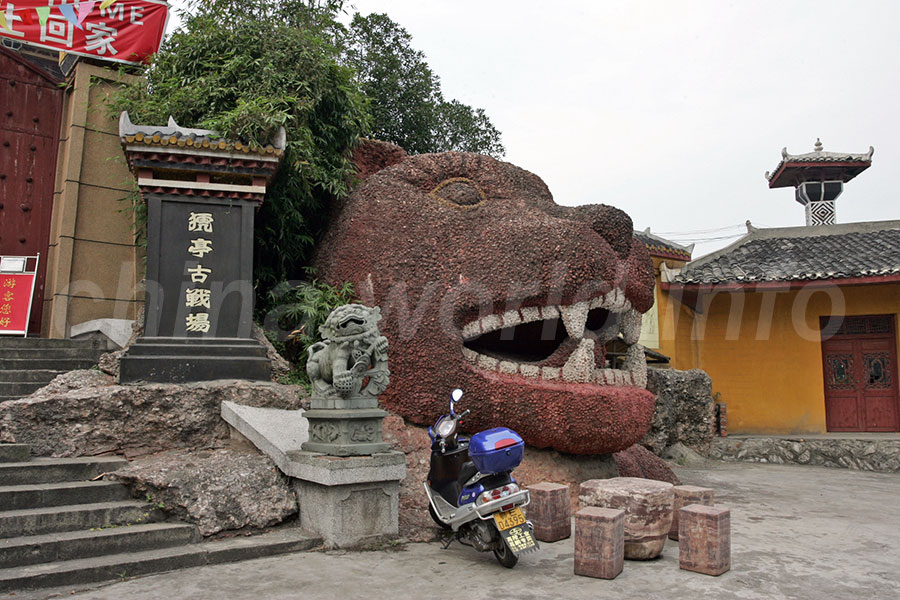
[[196,524],[204,536],[270,527],[297,513],[287,477],[255,451],[165,452],[138,459],[107,478]]

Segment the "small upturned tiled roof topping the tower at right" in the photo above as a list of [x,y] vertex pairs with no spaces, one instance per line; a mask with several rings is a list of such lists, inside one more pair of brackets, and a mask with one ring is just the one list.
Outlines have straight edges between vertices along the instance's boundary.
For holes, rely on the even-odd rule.
[[770,188],[793,187],[800,181],[801,174],[813,179],[813,175],[818,176],[819,171],[824,171],[828,179],[846,183],[871,166],[873,154],[875,148],[872,146],[863,154],[825,152],[822,142],[817,139],[813,151],[806,154],[790,154],[787,148],[782,148],[781,162],[771,173],[766,171],[766,179]]

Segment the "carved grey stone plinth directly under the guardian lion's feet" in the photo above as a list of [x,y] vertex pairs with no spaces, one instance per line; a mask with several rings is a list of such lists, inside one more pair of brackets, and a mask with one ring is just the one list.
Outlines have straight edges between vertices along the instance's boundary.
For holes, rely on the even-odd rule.
[[380,408],[312,408],[303,415],[309,421],[303,449],[332,456],[387,452],[390,445],[381,438],[381,420],[387,415]]

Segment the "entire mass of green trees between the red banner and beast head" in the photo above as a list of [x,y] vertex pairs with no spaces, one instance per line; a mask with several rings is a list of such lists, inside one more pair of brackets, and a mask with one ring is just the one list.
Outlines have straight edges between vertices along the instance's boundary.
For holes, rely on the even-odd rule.
[[376,14],[345,28],[337,20],[345,4],[190,0],[144,77],[110,105],[135,123],[172,115],[260,145],[285,128],[282,166],[256,217],[258,314],[284,301],[268,293],[278,282],[302,276],[328,203],[353,182],[349,157],[360,136],[410,153],[503,153],[484,111],[444,99],[402,27]]

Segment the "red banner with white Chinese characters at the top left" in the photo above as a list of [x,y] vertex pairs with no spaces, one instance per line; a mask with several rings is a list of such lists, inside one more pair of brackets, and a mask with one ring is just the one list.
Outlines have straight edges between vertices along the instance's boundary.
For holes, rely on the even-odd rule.
[[169,5],[163,0],[0,0],[0,36],[82,56],[141,63],[159,50],[168,16]]

